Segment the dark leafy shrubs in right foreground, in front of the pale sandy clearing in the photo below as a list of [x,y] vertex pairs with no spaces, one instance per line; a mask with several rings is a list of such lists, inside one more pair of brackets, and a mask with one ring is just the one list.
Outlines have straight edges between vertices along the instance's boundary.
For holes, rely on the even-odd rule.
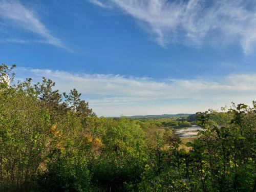
[[[239,104],[212,121],[217,112],[197,113],[203,129],[188,142],[188,153],[179,150],[179,140],[170,139],[165,164],[147,166],[139,188],[142,191],[255,191],[255,108]],[[223,112],[222,112],[223,113]],[[229,120],[227,120],[227,117]],[[227,120],[227,121],[225,121]],[[167,164],[167,165],[166,165]]]

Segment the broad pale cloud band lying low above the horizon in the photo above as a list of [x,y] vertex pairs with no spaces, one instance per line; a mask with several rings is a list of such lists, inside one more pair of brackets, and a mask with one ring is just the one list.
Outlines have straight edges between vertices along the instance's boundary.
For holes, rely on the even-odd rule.
[[46,76],[56,82],[56,89],[61,92],[76,88],[100,115],[191,113],[221,107],[231,101],[250,103],[256,95],[254,73],[230,74],[218,80],[166,79],[161,82],[151,78],[28,68],[17,68],[16,74],[18,79],[32,77],[34,81]]

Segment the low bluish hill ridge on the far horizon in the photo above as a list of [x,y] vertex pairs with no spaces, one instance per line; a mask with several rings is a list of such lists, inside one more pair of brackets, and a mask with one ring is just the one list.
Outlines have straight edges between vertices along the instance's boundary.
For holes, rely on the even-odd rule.
[[134,115],[134,116],[120,116],[120,117],[109,117],[109,118],[122,118],[127,119],[160,119],[160,118],[179,118],[179,117],[188,117],[189,113],[180,113],[180,114],[163,114],[163,115]]

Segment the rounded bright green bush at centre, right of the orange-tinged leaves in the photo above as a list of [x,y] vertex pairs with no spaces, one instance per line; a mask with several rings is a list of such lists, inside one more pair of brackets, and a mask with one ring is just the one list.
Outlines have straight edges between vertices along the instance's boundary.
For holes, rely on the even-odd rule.
[[139,179],[147,161],[144,132],[134,121],[109,120],[100,156],[93,162],[94,180],[101,186],[121,190],[123,182]]

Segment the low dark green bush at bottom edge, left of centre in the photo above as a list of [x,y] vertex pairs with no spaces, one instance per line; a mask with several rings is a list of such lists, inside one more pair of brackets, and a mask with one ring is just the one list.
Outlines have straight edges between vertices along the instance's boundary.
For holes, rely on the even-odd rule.
[[87,161],[75,154],[54,151],[45,172],[37,176],[35,191],[92,191]]

